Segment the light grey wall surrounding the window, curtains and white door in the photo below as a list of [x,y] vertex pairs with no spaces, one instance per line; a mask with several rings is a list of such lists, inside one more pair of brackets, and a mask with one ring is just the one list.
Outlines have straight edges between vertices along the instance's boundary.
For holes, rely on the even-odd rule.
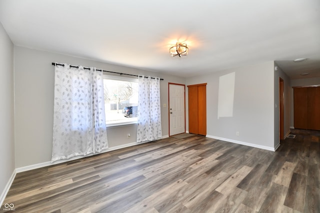
[[[162,135],[168,135],[168,110],[163,107],[168,105],[168,82],[184,84],[185,78],[14,46],[15,168],[51,160],[54,84],[51,62],[163,78],[160,81]],[[127,138],[127,133],[131,138]],[[110,148],[133,143],[136,125],[110,127],[107,134]]]

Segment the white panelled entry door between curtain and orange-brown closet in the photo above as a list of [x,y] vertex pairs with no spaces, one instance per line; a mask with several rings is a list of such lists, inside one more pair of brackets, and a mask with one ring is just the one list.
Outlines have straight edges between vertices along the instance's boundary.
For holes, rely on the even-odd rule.
[[185,132],[185,85],[169,83],[169,136]]

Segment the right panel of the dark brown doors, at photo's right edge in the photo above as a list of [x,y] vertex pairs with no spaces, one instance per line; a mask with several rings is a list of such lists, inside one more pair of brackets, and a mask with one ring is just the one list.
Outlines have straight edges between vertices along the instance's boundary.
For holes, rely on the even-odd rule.
[[308,87],[307,100],[307,129],[320,130],[320,87]]

